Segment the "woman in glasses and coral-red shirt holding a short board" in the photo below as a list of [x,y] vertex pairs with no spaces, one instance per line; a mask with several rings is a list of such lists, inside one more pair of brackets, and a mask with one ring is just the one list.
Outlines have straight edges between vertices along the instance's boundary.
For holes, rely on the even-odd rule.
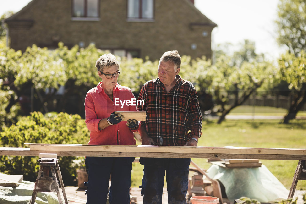
[[[96,61],[99,84],[88,91],[85,98],[85,123],[90,130],[89,145],[135,145],[137,120],[122,121],[115,111],[136,111],[136,106],[115,106],[114,99],[131,100],[130,88],[117,83],[119,64],[114,55],[102,55]],[[87,204],[106,203],[111,175],[109,202],[129,204],[132,157],[86,157],[88,167]]]

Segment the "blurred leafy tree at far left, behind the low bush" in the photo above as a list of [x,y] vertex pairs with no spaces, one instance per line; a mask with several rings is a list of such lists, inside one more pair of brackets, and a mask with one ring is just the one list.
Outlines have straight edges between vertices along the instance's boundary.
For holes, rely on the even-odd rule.
[[40,98],[41,105],[46,106],[40,92],[49,88],[55,91],[65,84],[62,60],[53,54],[47,48],[36,45],[28,47],[22,54],[21,51],[6,47],[3,40],[0,41],[0,89],[11,93],[5,108],[7,113],[31,88]]

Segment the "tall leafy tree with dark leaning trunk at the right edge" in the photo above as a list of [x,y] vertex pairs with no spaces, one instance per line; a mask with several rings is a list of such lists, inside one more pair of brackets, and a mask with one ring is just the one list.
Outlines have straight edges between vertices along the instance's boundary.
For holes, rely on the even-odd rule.
[[[304,100],[305,85],[299,77],[303,75],[303,71],[299,69],[302,62],[299,60],[303,59],[306,51],[306,2],[303,0],[281,0],[278,4],[278,17],[279,19],[276,21],[278,43],[289,48],[289,54],[282,56],[279,61],[282,77],[290,84],[289,89],[293,90],[291,93],[293,101],[283,120],[283,123],[289,123],[289,120],[295,118],[297,112],[306,102]],[[297,67],[293,67],[292,64]],[[293,74],[292,76],[297,78],[290,77],[289,74]]]

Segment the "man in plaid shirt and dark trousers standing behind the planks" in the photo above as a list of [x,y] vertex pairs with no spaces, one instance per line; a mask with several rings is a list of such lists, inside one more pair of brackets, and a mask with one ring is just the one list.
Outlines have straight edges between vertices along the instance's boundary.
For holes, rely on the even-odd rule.
[[[178,52],[165,52],[158,78],[140,90],[138,100],[145,103],[137,109],[146,111],[139,130],[142,145],[197,146],[202,129],[199,100],[194,86],[178,75],[180,67]],[[190,158],[140,158],[140,163],[144,165],[144,204],[162,203],[165,172],[168,202],[186,203]]]

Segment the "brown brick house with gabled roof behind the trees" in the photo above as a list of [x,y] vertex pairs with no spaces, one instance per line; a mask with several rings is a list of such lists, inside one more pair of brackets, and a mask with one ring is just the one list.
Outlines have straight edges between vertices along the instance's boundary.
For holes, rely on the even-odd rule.
[[110,50],[119,56],[159,59],[177,49],[192,58],[211,58],[211,32],[217,25],[193,0],[33,0],[6,19],[10,47],[36,44]]

